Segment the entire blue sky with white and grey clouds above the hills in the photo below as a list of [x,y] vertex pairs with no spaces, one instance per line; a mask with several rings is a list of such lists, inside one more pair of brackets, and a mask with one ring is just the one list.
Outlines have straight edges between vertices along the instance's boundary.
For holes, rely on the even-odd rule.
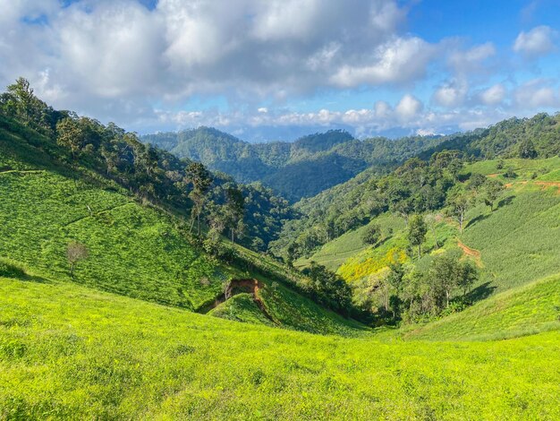
[[450,133],[560,109],[560,0],[0,0],[0,83],[139,133]]

